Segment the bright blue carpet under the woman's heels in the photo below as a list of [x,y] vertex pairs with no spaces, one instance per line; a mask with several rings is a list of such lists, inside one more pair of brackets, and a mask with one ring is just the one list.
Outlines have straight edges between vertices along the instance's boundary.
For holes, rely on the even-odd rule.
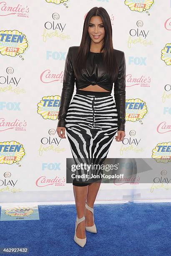
[[83,248],[73,240],[75,205],[38,208],[40,220],[0,221],[0,247],[28,247],[29,256],[171,256],[169,202],[95,204],[98,233],[86,231]]

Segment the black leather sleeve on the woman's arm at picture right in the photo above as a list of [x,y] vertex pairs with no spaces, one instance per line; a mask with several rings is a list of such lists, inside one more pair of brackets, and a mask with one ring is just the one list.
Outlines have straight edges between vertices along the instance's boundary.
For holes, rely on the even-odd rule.
[[114,83],[114,98],[118,112],[118,131],[125,131],[126,123],[126,60],[123,52],[118,76]]

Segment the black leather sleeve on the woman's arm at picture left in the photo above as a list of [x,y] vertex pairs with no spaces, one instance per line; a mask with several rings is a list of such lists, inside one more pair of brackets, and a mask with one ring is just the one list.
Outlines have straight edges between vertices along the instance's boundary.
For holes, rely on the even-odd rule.
[[60,96],[60,107],[58,113],[57,127],[65,127],[65,117],[67,115],[68,107],[73,96],[75,84],[75,75],[73,71],[73,64],[71,61],[70,47],[65,59],[65,69],[63,74],[63,88]]

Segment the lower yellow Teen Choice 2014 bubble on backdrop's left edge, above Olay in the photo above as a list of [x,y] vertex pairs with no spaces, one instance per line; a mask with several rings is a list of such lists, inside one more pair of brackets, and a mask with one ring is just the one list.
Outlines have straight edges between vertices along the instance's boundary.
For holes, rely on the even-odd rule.
[[0,164],[13,164],[25,155],[24,147],[17,141],[0,142]]

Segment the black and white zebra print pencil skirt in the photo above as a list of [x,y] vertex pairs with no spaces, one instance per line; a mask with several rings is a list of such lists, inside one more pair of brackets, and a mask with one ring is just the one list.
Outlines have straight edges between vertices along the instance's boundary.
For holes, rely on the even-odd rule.
[[65,117],[65,129],[75,164],[82,163],[84,168],[75,171],[73,185],[101,181],[101,165],[118,130],[117,121],[111,92],[76,90]]

